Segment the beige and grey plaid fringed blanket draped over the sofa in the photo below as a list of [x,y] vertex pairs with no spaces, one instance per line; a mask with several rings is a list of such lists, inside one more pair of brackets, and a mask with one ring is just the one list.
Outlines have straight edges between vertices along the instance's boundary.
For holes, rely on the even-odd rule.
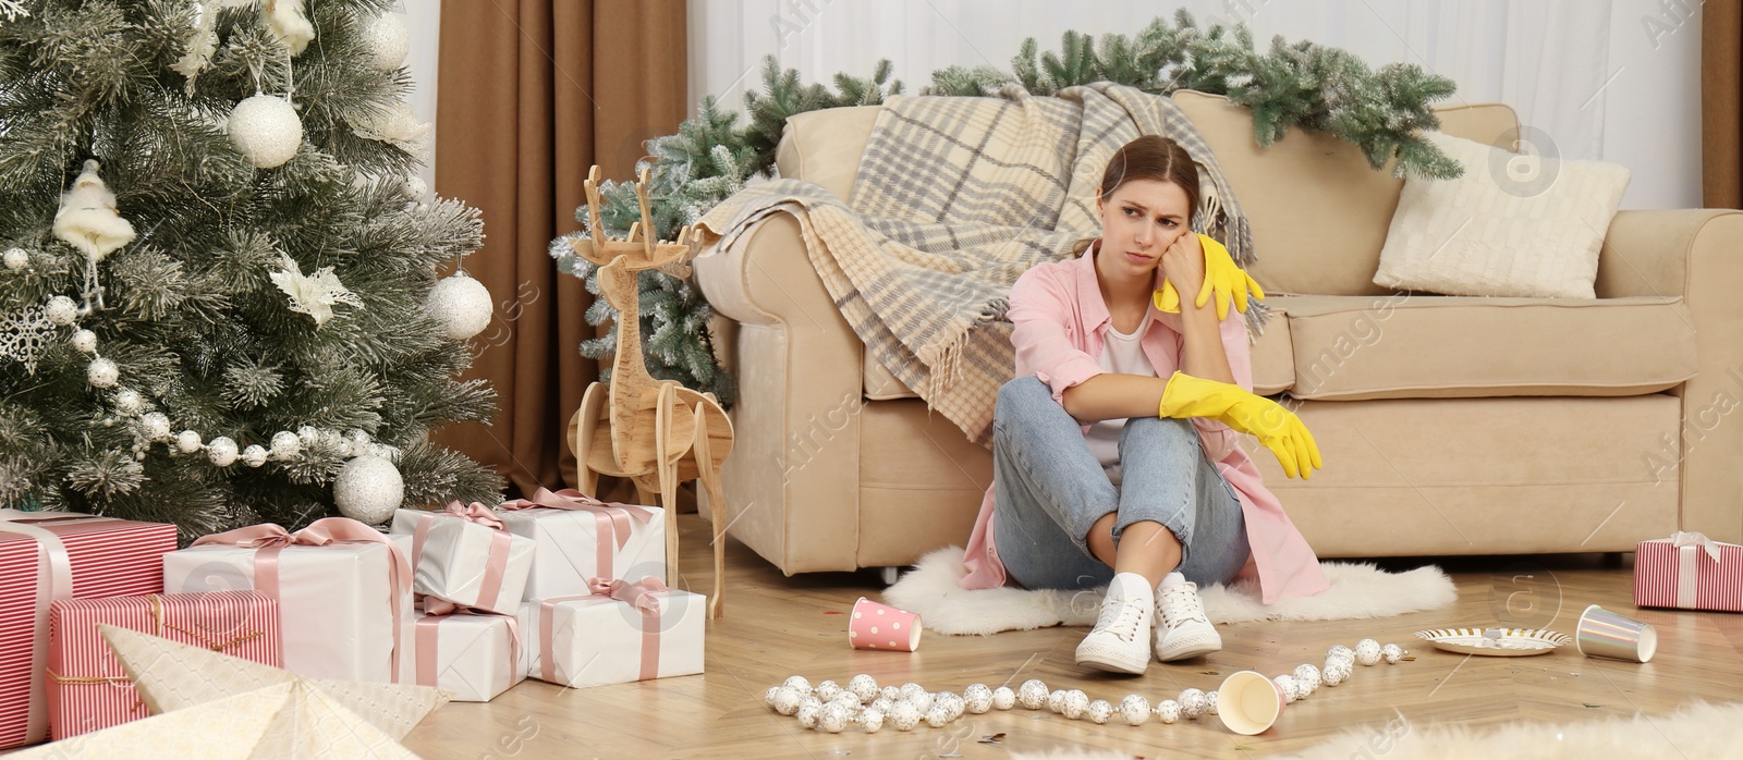
[[[1173,101],[1098,82],[1039,98],[896,96],[884,103],[852,200],[819,185],[749,185],[697,221],[725,249],[793,214],[835,305],[866,350],[969,439],[992,444],[1013,375],[1011,284],[1100,234],[1095,190],[1119,146],[1175,139],[1199,166],[1194,225],[1253,261],[1251,232],[1217,159]],[[1255,303],[1257,305],[1257,303]],[[1257,329],[1262,309],[1248,310]]]

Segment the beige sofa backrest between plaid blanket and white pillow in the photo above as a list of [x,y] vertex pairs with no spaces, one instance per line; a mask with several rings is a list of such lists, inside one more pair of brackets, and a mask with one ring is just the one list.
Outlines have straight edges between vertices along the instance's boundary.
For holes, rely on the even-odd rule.
[[[1361,148],[1306,129],[1260,148],[1251,110],[1194,91],[1173,99],[1234,187],[1253,227],[1258,261],[1251,274],[1267,293],[1389,293],[1373,284],[1373,272],[1403,188],[1391,166],[1375,171]],[[1434,113],[1445,134],[1513,150],[1513,108],[1473,105]]]

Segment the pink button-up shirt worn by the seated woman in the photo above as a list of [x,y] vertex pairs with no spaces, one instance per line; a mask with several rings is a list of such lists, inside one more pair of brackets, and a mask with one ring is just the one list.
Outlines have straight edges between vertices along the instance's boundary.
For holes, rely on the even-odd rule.
[[[1023,272],[1011,286],[1011,343],[1016,347],[1016,377],[1034,375],[1053,389],[1053,401],[1063,403],[1065,389],[1091,377],[1102,375],[1096,363],[1102,354],[1102,340],[1112,324],[1107,303],[1102,302],[1102,289],[1095,272],[1095,251],[1100,242],[1082,256],[1065,261],[1042,263]],[[1156,286],[1161,288],[1161,268],[1156,272]],[[1190,298],[1190,295],[1183,295]],[[1170,377],[1180,368],[1182,357],[1182,322],[1180,314],[1164,314],[1152,303],[1150,328],[1142,338],[1143,354],[1150,359],[1157,377]],[[1229,370],[1236,383],[1253,389],[1253,357],[1246,342],[1246,321],[1231,314],[1222,321],[1222,347],[1229,356]],[[1241,570],[1241,579],[1258,579],[1258,593],[1264,603],[1272,603],[1283,596],[1307,596],[1325,591],[1328,582],[1319,570],[1319,558],[1312,547],[1283,514],[1278,497],[1265,488],[1258,476],[1258,467],[1239,446],[1238,432],[1222,422],[1194,418],[1206,457],[1215,464],[1236,497],[1241,500],[1241,516],[1246,519],[1246,540],[1253,553]],[[1089,425],[1082,425],[1084,431]],[[960,580],[966,589],[983,589],[1004,586],[1004,563],[992,546],[994,492],[988,486],[981,499],[980,516],[974,518],[974,532],[969,533],[964,567],[967,575]]]

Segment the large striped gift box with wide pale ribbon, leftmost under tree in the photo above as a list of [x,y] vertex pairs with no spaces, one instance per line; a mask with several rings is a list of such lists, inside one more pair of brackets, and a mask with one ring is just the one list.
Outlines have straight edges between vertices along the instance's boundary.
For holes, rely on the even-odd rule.
[[174,549],[174,525],[0,509],[0,748],[49,737],[51,605],[164,591]]

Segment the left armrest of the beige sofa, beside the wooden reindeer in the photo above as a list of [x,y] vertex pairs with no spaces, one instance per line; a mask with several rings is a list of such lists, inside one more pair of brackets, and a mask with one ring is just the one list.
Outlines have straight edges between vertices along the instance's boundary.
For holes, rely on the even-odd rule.
[[865,345],[823,288],[798,221],[774,214],[692,261],[737,321],[729,530],[788,575],[856,570]]

